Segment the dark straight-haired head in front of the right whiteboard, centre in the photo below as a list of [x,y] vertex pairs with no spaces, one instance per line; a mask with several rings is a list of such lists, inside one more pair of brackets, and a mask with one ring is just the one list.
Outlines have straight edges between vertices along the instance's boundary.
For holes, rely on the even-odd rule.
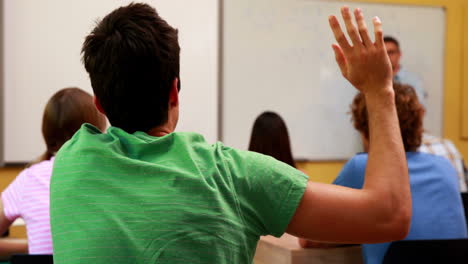
[[249,150],[272,156],[296,167],[292,157],[288,129],[283,119],[274,112],[264,112],[255,120]]

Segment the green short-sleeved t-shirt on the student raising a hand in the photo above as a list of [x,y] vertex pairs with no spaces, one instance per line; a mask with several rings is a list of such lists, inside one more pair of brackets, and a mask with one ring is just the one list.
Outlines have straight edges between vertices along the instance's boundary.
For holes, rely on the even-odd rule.
[[54,263],[251,263],[306,185],[289,165],[198,134],[85,124],[55,159]]

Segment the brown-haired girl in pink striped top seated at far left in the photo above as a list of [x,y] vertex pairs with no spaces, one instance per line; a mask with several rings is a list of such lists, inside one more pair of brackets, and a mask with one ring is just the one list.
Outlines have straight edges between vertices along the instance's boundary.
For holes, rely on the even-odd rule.
[[54,156],[83,123],[104,130],[106,118],[94,106],[93,97],[78,88],[65,88],[48,101],[42,117],[45,153],[23,170],[2,192],[0,233],[17,219],[26,223],[28,240],[0,239],[3,257],[14,253],[52,254],[49,221],[49,183]]

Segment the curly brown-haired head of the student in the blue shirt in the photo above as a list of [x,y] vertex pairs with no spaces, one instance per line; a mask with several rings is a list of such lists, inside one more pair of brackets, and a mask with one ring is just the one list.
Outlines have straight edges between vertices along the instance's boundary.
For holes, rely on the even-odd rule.
[[[419,103],[413,87],[395,83],[393,89],[405,151],[416,151],[422,140],[424,107]],[[354,98],[351,104],[351,114],[354,127],[366,139],[369,139],[366,100],[362,93]]]

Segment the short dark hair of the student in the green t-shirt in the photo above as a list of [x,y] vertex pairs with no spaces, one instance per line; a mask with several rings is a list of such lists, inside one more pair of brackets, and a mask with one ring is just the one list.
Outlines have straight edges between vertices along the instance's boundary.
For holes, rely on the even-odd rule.
[[82,54],[97,100],[113,126],[147,132],[167,122],[180,47],[177,29],[154,8],[131,3],[112,11],[86,37]]

